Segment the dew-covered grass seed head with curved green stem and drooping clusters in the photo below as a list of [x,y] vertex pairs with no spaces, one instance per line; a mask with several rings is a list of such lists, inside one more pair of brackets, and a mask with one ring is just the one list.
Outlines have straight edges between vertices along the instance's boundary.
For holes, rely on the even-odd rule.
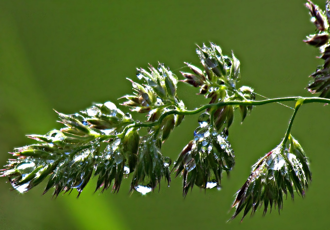
[[[137,78],[128,79],[132,94],[120,98],[120,105],[129,107],[130,113],[124,114],[110,101],[75,114],[57,112],[64,128],[28,135],[38,142],[16,148],[0,176],[8,177],[21,193],[48,178],[44,193],[51,189],[55,197],[73,189],[79,196],[92,177],[97,180],[96,191],[111,188],[118,192],[122,180],[130,174],[131,191],[146,194],[159,187],[163,178],[169,185],[172,171],[183,179],[183,196],[194,186],[219,188],[223,173],[228,174],[235,165],[228,141],[235,111],[243,122],[253,106],[294,101],[283,139],[252,166],[250,176],[238,190],[232,219],[240,213],[244,218],[261,207],[264,214],[273,206],[280,210],[287,195],[292,199],[295,192],[304,196],[312,179],[305,152],[290,133],[296,113],[306,103],[330,103],[330,3],[327,1],[325,11],[311,1],[306,6],[316,33],[304,42],[318,47],[319,58],[324,60],[311,74],[307,89],[319,93],[319,97],[256,101],[253,89],[239,85],[240,61],[235,55],[224,55],[214,43],[203,44],[196,49],[201,66],[185,63],[190,71],[181,72],[182,80],[162,63],[137,69]],[[198,94],[209,103],[188,110],[177,96],[179,81],[198,88]],[[146,121],[135,120],[135,112],[146,114]],[[184,116],[197,113],[201,113],[199,126],[172,165],[172,159],[162,154],[162,144]]]

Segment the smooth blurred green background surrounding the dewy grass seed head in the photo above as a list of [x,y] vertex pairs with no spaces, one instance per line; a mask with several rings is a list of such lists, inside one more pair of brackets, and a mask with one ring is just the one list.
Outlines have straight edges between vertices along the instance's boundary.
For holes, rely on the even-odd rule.
[[[315,1],[324,6],[325,1]],[[302,0],[278,1],[0,1],[0,163],[25,134],[60,128],[53,108],[75,113],[93,102],[131,93],[125,77],[157,61],[179,75],[183,62],[198,65],[195,43],[215,42],[241,60],[242,85],[266,97],[310,96],[304,90],[319,60],[302,42],[314,32]],[[207,103],[181,83],[188,108]],[[260,98],[259,98],[260,99]],[[51,199],[45,183],[26,194],[0,178],[2,229],[329,229],[329,107],[304,105],[293,135],[310,157],[313,182],[306,197],[287,199],[262,217],[226,222],[235,192],[251,165],[283,137],[292,111],[279,104],[255,107],[230,130],[236,166],[222,190],[194,188],[182,198],[181,178],[141,196],[129,191],[93,193],[95,180],[77,193]],[[163,153],[175,159],[192,138],[197,116],[172,132]]]

